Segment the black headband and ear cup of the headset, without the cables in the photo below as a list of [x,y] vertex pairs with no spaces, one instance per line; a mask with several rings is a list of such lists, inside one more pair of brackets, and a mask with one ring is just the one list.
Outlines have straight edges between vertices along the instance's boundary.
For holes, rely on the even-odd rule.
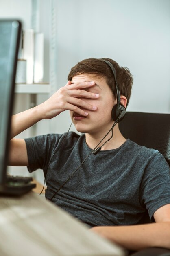
[[115,79],[117,104],[112,108],[111,117],[112,117],[113,121],[116,121],[118,119],[118,123],[119,123],[120,121],[122,121],[122,119],[126,115],[126,109],[120,103],[120,90],[119,90],[119,85],[118,85],[118,82],[117,82],[117,79],[116,79],[116,70],[113,67],[113,65],[111,64],[111,62],[109,62],[107,60],[104,60],[104,59],[102,59],[102,61],[105,61],[105,63],[107,63],[107,65],[109,65],[109,67],[111,68],[111,71],[113,72],[113,76],[114,76],[114,79]]

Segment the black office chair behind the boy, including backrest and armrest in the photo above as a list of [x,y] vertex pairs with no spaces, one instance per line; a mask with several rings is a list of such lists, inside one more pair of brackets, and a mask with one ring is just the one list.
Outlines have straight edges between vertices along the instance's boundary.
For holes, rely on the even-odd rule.
[[[154,148],[165,157],[170,166],[170,114],[126,112],[119,123],[119,129],[126,139],[141,146]],[[148,214],[144,223],[150,222]],[[170,250],[149,247],[139,252],[130,252],[132,256],[170,256]]]

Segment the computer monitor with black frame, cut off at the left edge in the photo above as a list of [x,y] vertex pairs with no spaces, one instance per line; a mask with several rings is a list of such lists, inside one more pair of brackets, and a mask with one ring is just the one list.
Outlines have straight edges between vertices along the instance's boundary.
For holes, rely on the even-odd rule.
[[0,19],[0,190],[6,180],[21,23]]

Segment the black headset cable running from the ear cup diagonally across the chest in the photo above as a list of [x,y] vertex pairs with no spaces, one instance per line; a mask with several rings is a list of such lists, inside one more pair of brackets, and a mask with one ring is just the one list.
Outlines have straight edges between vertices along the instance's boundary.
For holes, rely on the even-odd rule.
[[[118,119],[116,119],[116,121],[113,123],[111,129],[109,130],[109,132],[111,131],[111,137],[109,139],[107,139],[107,141],[109,141],[112,137],[113,137],[113,128],[114,126],[116,126],[118,122]],[[105,137],[109,134],[109,132],[107,132],[107,134],[105,135]],[[54,196],[60,191],[60,189],[65,185],[65,183],[68,182],[68,180],[70,180],[70,178],[74,175],[74,173],[82,166],[82,164],[85,162],[85,160],[92,154],[95,152],[95,150],[98,150],[99,148],[101,149],[102,146],[104,146],[107,141],[105,141],[104,144],[102,144],[101,147],[97,148],[98,145],[103,141],[103,139],[105,139],[105,137],[102,138],[102,140],[97,144],[97,146],[89,153],[89,155],[87,155],[87,157],[83,160],[83,162],[76,168],[76,170],[68,177],[67,180],[65,180],[65,182],[59,187],[59,189],[57,189],[57,191],[54,193],[54,195],[52,195],[52,197],[49,199],[50,201],[54,198]],[[97,149],[96,149],[97,148]],[[97,153],[100,151],[100,149],[97,151]],[[97,153],[94,153],[94,155],[96,155]]]

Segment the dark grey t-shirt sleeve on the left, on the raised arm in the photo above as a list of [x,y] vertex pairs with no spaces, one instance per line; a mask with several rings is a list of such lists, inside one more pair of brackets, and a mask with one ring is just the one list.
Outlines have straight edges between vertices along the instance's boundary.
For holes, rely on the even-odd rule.
[[46,172],[51,156],[59,146],[60,138],[59,134],[47,134],[25,139],[29,172],[37,169]]

